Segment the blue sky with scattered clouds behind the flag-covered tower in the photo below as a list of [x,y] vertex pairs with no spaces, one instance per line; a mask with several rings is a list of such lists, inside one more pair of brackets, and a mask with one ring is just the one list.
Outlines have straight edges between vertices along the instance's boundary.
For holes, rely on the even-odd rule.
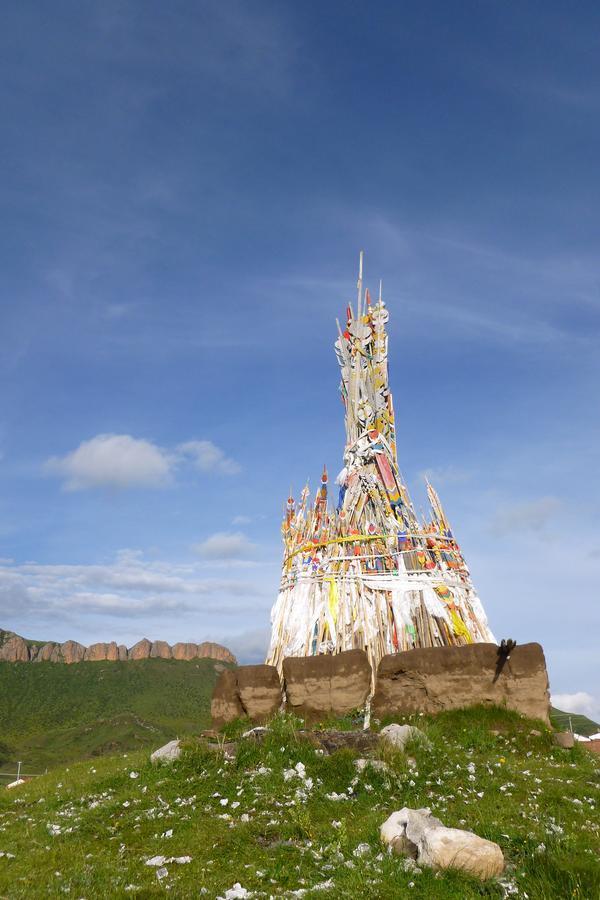
[[401,466],[600,713],[600,11],[57,2],[0,28],[0,626],[261,657],[384,280]]

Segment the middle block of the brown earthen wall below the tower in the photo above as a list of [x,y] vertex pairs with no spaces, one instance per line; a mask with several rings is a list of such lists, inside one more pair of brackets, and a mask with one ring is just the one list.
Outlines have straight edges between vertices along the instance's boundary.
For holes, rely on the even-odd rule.
[[288,657],[283,661],[283,677],[288,708],[315,721],[364,706],[371,687],[371,666],[364,650]]

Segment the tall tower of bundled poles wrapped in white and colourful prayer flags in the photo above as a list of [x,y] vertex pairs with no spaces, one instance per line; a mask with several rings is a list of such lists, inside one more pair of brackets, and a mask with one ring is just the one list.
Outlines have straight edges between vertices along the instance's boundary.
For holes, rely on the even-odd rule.
[[431,516],[420,522],[396,457],[388,384],[389,313],[381,296],[363,295],[338,326],[335,351],[345,407],[339,498],[328,504],[323,470],[314,503],[308,487],[289,497],[284,558],[271,612],[267,663],[287,656],[366,650],[373,671],[382,656],[414,647],[493,642],[485,612],[440,499],[427,483]]

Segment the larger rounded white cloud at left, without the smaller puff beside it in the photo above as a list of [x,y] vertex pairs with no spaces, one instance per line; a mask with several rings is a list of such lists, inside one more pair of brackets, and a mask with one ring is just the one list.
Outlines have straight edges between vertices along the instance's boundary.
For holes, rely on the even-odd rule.
[[47,472],[62,475],[68,491],[86,488],[164,487],[172,460],[156,444],[129,434],[98,434],[63,457],[52,457]]

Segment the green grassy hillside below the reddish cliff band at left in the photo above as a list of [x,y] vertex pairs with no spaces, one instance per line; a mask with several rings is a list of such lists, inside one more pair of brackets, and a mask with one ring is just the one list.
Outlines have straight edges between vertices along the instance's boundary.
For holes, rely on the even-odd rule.
[[[210,725],[224,663],[0,662],[0,774],[160,745]],[[0,783],[6,778],[0,778]]]

